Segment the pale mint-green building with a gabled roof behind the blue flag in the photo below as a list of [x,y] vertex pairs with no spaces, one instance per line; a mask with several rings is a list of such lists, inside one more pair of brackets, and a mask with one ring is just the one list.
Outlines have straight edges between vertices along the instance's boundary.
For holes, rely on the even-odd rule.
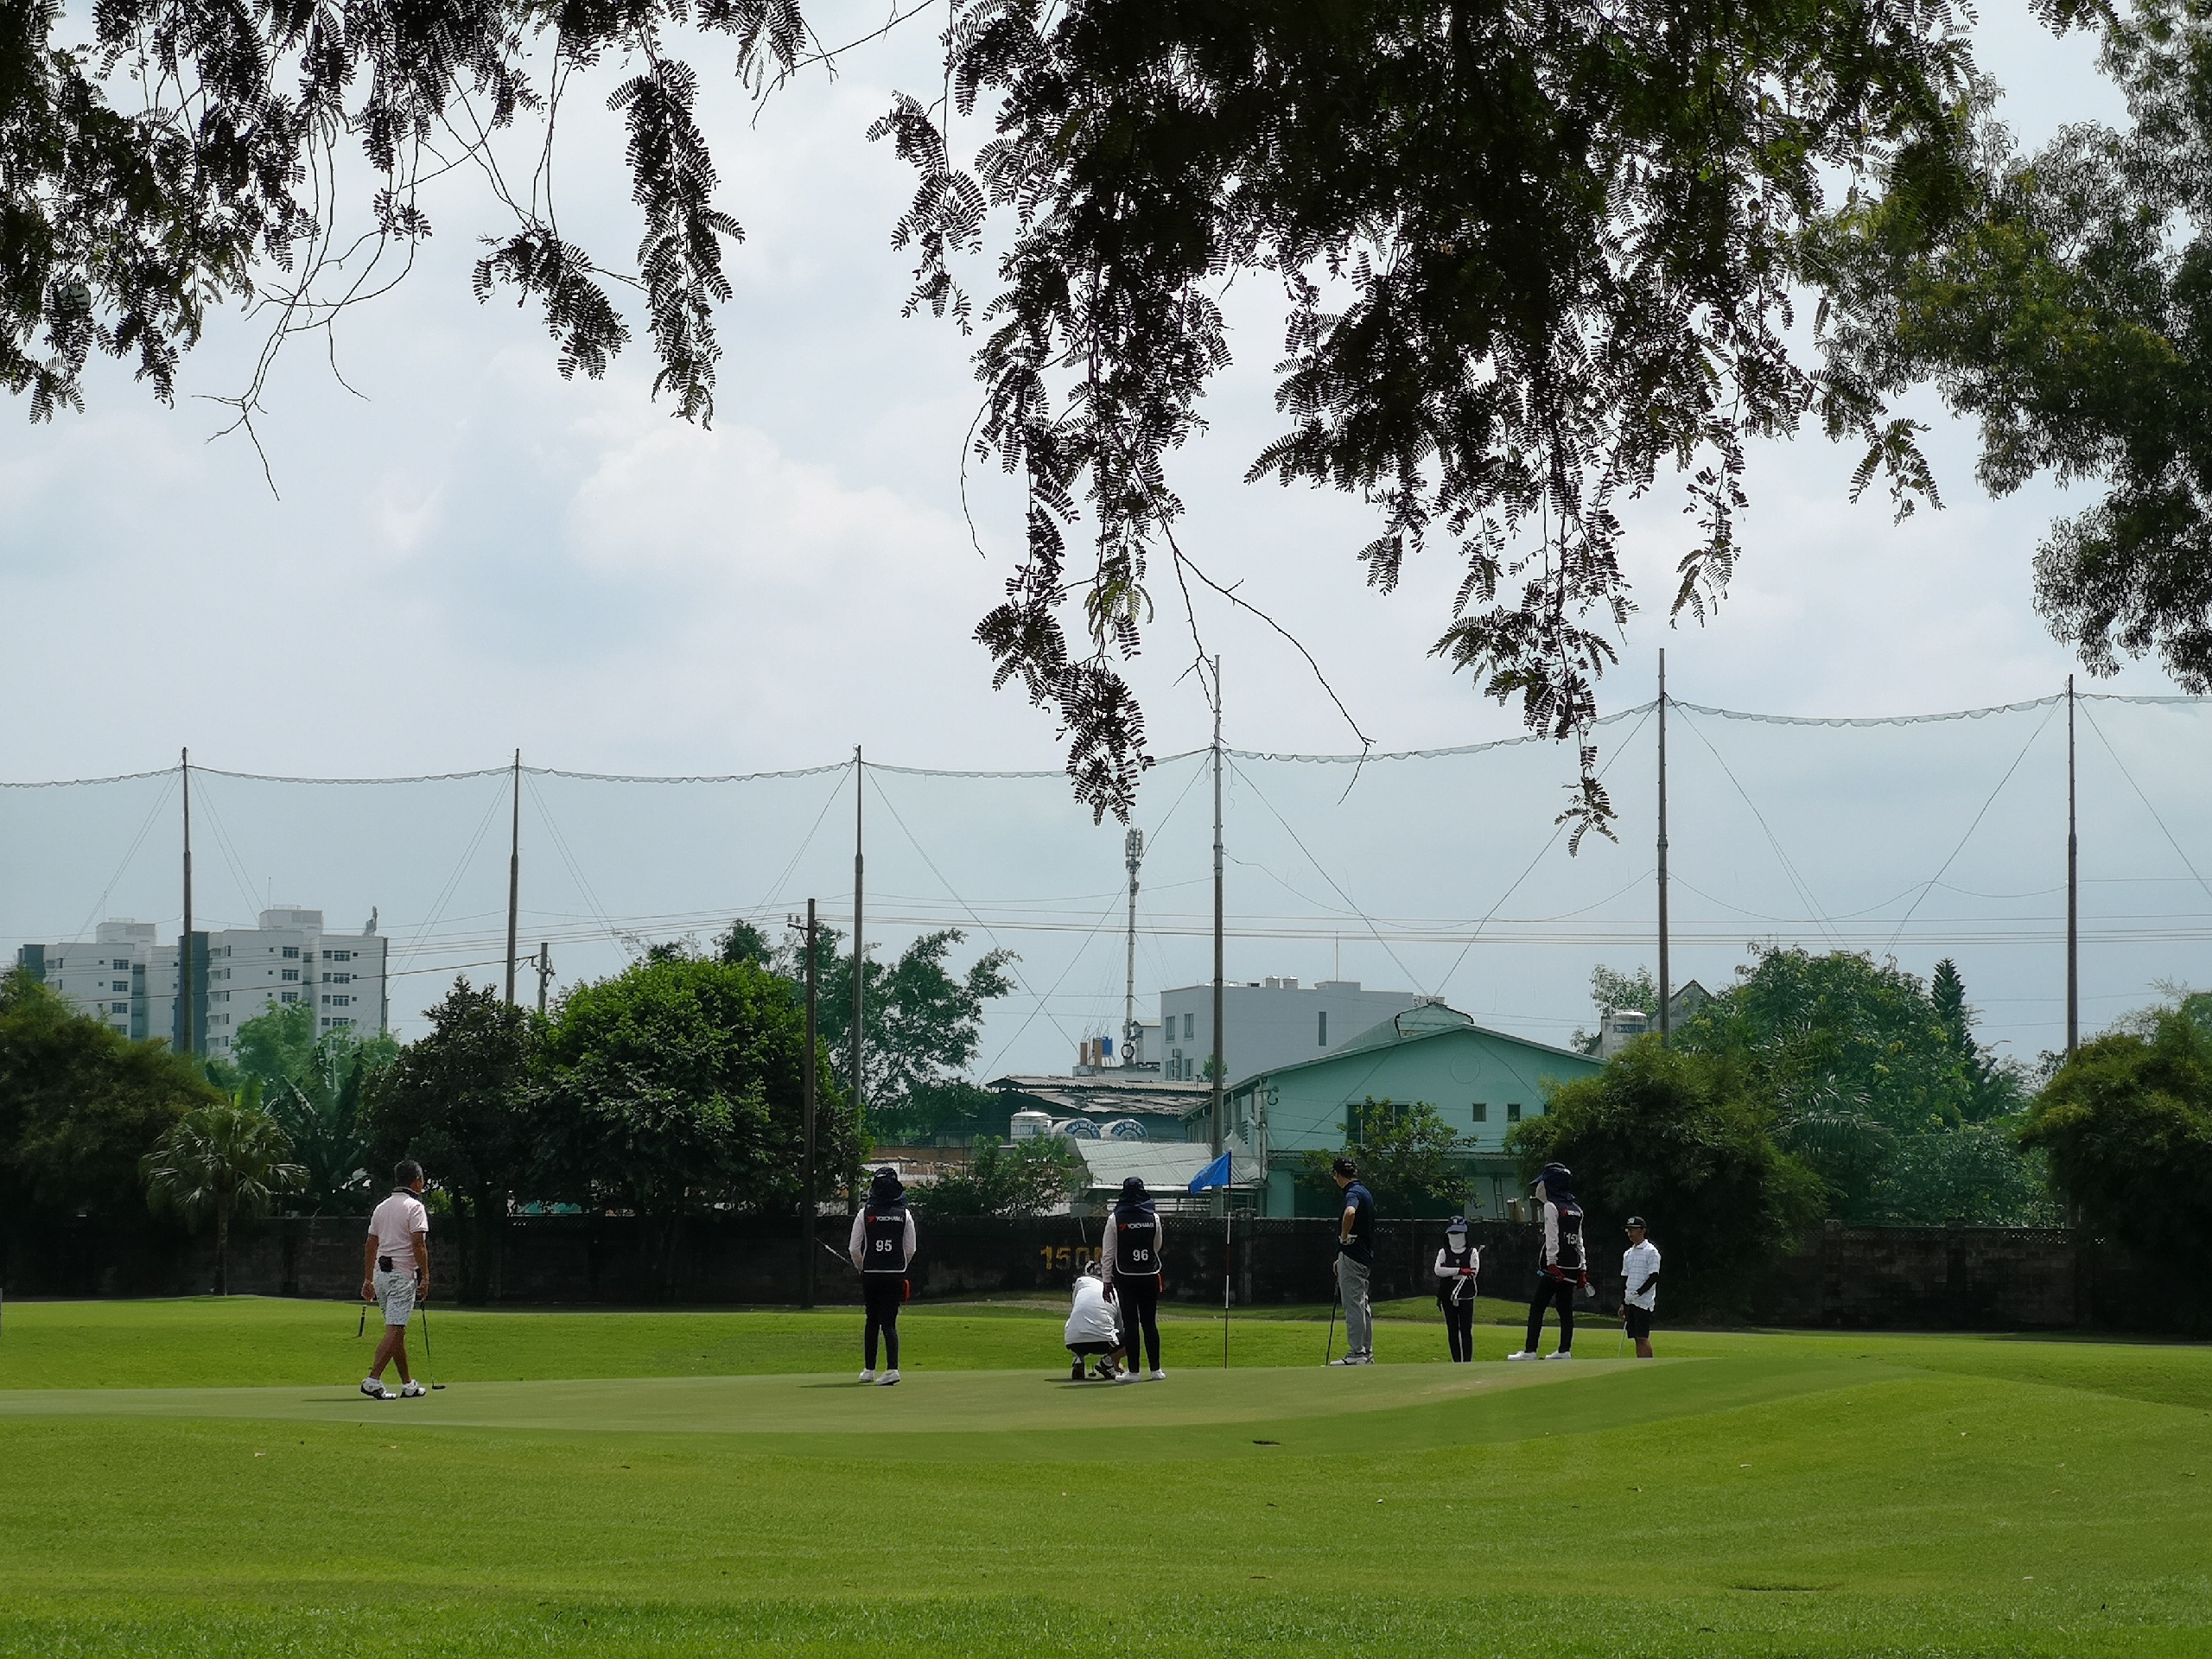
[[1245,1077],[1230,1091],[1230,1133],[1267,1170],[1265,1214],[1287,1217],[1298,1214],[1298,1155],[1340,1150],[1360,1102],[1427,1102],[1467,1144],[1480,1212],[1498,1219],[1506,1199],[1520,1194],[1506,1130],[1544,1110],[1548,1084],[1597,1071],[1601,1064],[1590,1055],[1491,1031],[1442,1002],[1422,1002],[1316,1060]]

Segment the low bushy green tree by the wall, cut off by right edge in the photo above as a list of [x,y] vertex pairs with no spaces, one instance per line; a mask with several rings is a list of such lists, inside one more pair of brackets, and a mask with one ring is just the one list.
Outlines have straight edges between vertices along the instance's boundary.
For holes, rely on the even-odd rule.
[[2212,1254],[2212,1033],[2161,1009],[2150,1035],[2081,1044],[2028,1110],[2022,1139],[2081,1219],[2170,1272],[2201,1281]]

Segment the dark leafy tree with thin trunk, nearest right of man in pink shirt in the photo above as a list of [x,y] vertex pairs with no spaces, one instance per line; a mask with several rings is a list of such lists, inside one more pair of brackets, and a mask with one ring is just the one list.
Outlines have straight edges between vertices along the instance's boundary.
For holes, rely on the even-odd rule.
[[[453,980],[427,1011],[429,1031],[372,1073],[361,1133],[380,1166],[411,1157],[462,1223],[460,1294],[482,1301],[498,1279],[507,1206],[540,1155],[533,1013]],[[378,1170],[380,1175],[383,1170]]]

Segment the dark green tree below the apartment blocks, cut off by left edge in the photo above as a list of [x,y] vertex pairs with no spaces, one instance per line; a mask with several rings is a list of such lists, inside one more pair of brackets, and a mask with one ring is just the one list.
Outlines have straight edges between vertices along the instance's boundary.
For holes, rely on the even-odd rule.
[[139,1210],[139,1157],[223,1097],[166,1042],[86,1020],[38,975],[0,980],[0,1212]]

